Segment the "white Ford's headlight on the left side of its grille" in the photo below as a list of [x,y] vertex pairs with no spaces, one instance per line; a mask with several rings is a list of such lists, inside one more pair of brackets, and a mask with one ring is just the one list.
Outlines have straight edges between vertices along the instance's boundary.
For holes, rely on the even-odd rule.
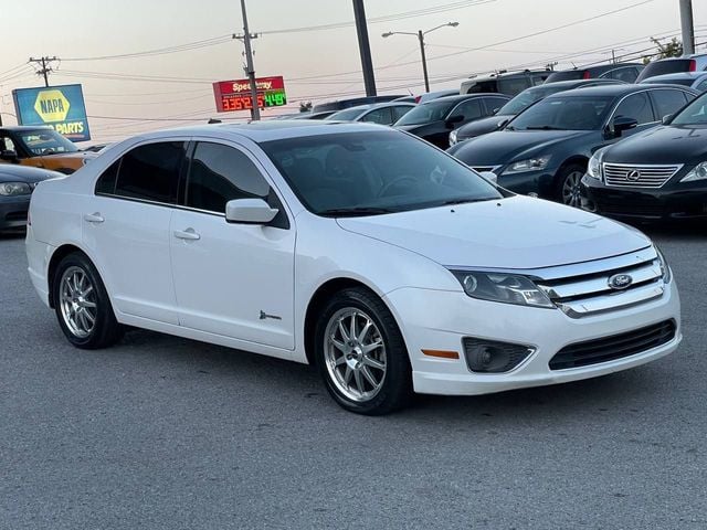
[[467,271],[452,271],[452,274],[472,298],[518,306],[556,307],[548,295],[525,276]]

